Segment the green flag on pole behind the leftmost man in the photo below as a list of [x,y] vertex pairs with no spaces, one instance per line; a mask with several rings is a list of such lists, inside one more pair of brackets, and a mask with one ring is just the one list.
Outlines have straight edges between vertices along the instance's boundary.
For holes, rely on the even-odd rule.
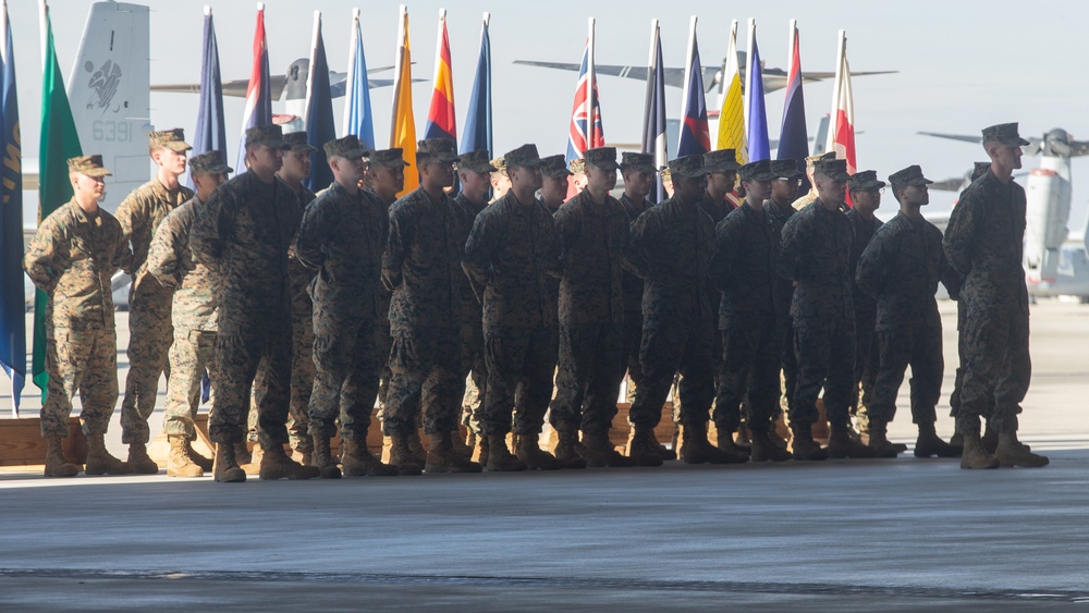
[[[68,179],[68,160],[83,155],[79,134],[72,119],[64,78],[61,76],[57,52],[53,50],[53,27],[49,10],[44,11],[46,20],[46,62],[41,81],[41,140],[38,151],[38,224],[70,199],[72,183]],[[34,384],[41,389],[41,402],[46,401],[46,303],[49,296],[41,290],[34,295],[34,363],[32,373]]]

